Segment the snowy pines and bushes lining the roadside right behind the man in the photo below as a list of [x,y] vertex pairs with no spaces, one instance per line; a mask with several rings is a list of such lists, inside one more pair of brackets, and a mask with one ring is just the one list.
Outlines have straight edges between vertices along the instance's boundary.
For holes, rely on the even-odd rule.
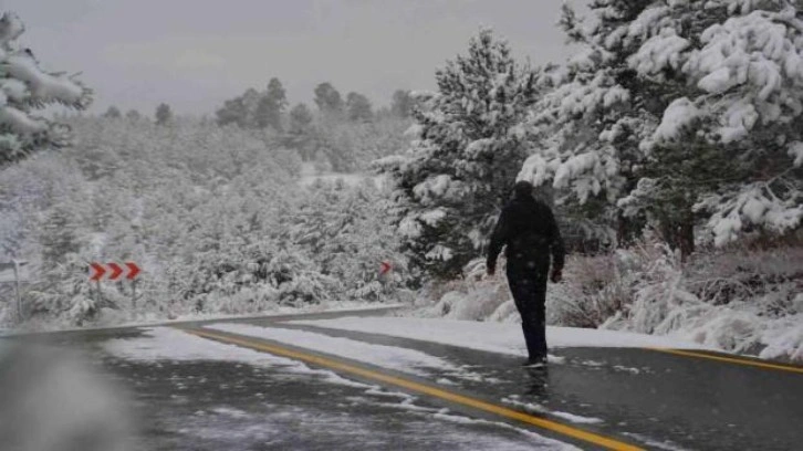
[[472,258],[524,179],[574,250],[552,324],[803,358],[799,2],[595,0],[560,25],[574,55],[533,69],[481,32],[377,162],[414,271],[441,281],[428,314],[515,318]]

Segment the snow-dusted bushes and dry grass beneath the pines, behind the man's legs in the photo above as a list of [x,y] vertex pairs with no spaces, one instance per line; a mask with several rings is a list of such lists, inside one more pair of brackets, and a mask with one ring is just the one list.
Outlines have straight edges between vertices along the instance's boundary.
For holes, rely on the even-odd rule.
[[[410,315],[519,323],[504,277],[470,268],[463,280],[434,287],[436,301]],[[666,244],[645,240],[616,253],[570,255],[564,281],[548,287],[546,321],[803,361],[801,268],[799,247],[700,252],[682,263]]]

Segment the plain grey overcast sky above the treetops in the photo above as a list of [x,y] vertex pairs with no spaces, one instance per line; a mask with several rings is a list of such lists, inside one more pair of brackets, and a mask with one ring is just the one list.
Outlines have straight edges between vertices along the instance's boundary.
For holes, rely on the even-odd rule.
[[277,76],[291,103],[316,84],[375,104],[434,88],[481,25],[533,63],[563,61],[559,0],[0,0],[45,69],[83,71],[93,109],[211,113]]

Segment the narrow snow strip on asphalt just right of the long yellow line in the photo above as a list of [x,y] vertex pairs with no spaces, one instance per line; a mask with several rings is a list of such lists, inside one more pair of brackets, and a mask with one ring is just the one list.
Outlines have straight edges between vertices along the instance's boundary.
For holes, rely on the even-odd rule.
[[466,368],[459,367],[446,359],[415,349],[374,345],[306,331],[259,327],[250,324],[212,324],[205,327],[232,334],[272,339],[294,346],[315,349],[322,353],[334,354],[353,360],[364,361],[383,368],[409,373],[416,376],[426,377],[432,373],[444,373],[448,377],[452,378],[470,380],[478,380],[478,378],[481,378],[481,376],[472,371],[468,371]]

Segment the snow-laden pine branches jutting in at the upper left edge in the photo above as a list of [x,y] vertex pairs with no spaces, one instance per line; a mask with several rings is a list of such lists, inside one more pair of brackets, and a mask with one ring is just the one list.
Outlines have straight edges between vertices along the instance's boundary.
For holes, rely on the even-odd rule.
[[55,104],[85,109],[92,101],[75,76],[42,70],[33,52],[17,43],[24,31],[15,14],[0,18],[0,165],[67,144],[69,128],[36,111]]

